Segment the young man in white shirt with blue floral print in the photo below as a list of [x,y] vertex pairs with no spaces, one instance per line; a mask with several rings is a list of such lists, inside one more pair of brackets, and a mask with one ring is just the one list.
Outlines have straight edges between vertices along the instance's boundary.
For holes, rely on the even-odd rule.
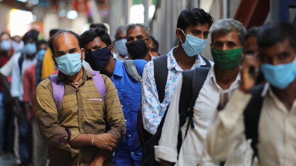
[[[199,53],[207,43],[212,24],[213,17],[203,9],[186,8],[180,13],[176,29],[178,46],[166,55],[168,76],[162,103],[158,99],[159,94],[156,89],[154,61],[146,64],[142,83],[142,112],[144,128],[151,134],[155,134],[183,70],[206,65],[206,59]],[[213,62],[210,63],[213,65]]]

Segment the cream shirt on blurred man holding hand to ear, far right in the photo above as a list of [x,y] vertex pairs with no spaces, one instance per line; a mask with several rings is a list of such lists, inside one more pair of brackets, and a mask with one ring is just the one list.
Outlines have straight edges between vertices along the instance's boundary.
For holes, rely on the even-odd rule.
[[[291,110],[287,110],[268,84],[261,95],[264,99],[258,124],[259,164],[296,165],[296,101]],[[251,94],[238,89],[218,113],[215,125],[207,135],[207,150],[212,157],[227,158],[245,137],[243,112],[250,99]]]

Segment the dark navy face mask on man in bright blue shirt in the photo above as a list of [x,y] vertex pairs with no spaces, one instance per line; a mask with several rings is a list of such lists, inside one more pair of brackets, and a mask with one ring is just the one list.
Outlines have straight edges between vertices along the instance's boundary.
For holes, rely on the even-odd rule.
[[111,57],[111,50],[109,47],[100,48],[99,50],[86,54],[85,61],[89,63],[95,71],[103,70]]

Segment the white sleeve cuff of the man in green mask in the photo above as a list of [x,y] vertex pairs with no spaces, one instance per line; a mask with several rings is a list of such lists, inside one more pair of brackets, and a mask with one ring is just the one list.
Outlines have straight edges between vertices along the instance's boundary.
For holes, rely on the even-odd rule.
[[178,153],[172,148],[165,146],[154,146],[155,160],[160,162],[160,159],[169,161],[172,163],[177,162]]

